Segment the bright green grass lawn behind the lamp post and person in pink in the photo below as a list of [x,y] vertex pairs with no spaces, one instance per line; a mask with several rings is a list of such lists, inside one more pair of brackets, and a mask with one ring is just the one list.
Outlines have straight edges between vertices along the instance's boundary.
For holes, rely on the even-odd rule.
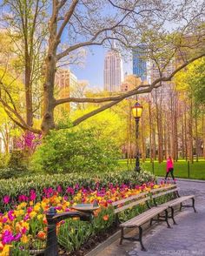
[[[134,169],[135,159],[133,159],[132,165],[127,165],[127,160],[119,160],[119,164],[122,169]],[[153,165],[149,161],[141,164],[142,168],[146,171],[153,172]],[[178,160],[174,164],[174,175],[176,178],[188,178],[188,162],[185,160]],[[165,176],[166,174],[166,162],[159,164],[157,161],[154,162],[154,174],[157,176]],[[189,164],[189,179],[205,179],[205,160],[199,159],[199,162]]]

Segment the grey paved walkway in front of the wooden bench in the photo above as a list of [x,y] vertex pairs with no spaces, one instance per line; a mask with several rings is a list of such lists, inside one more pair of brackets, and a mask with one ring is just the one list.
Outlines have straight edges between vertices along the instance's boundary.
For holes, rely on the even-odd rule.
[[205,183],[178,181],[177,184],[182,195],[195,194],[198,213],[193,208],[183,208],[175,217],[177,226],[171,229],[164,223],[153,226],[143,237],[148,252],[142,252],[137,242],[123,240],[123,246],[119,246],[117,240],[96,256],[205,256]]

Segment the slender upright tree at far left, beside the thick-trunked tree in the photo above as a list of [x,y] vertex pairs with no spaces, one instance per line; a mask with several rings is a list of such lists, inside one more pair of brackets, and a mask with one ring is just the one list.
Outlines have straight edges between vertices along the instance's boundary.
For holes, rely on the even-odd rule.
[[[4,0],[7,10],[2,15],[5,33],[13,44],[17,57],[16,71],[23,76],[26,125],[33,126],[33,114],[40,107],[40,77],[43,65],[43,45],[47,34],[45,10],[47,0]],[[35,98],[35,99],[34,99]]]

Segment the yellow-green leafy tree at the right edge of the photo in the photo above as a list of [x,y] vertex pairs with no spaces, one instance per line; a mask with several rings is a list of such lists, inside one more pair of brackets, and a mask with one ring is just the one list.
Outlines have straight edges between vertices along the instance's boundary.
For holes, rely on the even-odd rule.
[[[181,71],[175,77],[176,87],[180,93],[185,94],[186,109],[188,109],[188,129],[185,127],[185,132],[188,131],[188,156],[189,160],[193,161],[194,143],[195,141],[195,156],[198,161],[199,155],[202,155],[200,148],[204,145],[204,71],[205,58],[197,60],[189,64],[186,71]],[[187,114],[185,111],[185,121]],[[185,133],[185,140],[186,138]],[[186,150],[187,151],[187,150]],[[204,150],[203,150],[204,151]]]

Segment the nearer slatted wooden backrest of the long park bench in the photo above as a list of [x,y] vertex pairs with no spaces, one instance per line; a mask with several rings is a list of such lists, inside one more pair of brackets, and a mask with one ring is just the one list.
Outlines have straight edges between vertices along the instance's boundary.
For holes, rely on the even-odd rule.
[[114,212],[122,212],[124,210],[129,209],[130,207],[140,205],[142,203],[145,203],[150,199],[149,192],[142,192],[134,196],[130,196],[126,199],[121,199],[116,202],[113,202],[112,205],[114,207],[117,207]]

